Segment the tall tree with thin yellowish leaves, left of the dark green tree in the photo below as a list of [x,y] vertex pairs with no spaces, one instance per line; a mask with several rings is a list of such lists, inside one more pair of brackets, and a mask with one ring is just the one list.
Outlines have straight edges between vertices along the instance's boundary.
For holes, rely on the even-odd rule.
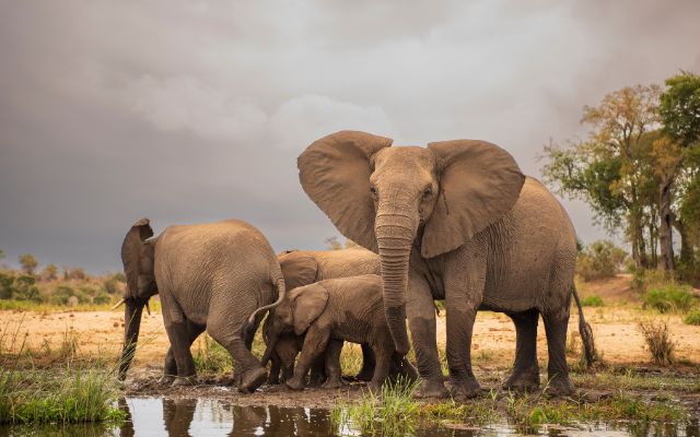
[[639,267],[655,259],[658,177],[651,170],[651,151],[660,92],[656,85],[635,85],[609,93],[583,108],[581,121],[592,127],[585,141],[545,147],[545,181],[588,203],[609,233],[625,225]]

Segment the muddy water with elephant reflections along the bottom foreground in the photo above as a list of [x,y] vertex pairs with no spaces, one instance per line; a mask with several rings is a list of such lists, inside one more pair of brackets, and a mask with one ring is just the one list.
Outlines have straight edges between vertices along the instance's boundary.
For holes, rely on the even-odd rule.
[[[121,427],[102,425],[0,427],[2,436],[361,436],[352,425],[334,428],[329,412],[304,408],[241,406],[213,399],[127,398],[119,401],[128,420]],[[520,435],[508,424],[462,429],[416,429],[418,436]],[[665,436],[700,437],[698,421],[682,424],[609,423],[575,427],[542,426],[539,435],[557,436]]]

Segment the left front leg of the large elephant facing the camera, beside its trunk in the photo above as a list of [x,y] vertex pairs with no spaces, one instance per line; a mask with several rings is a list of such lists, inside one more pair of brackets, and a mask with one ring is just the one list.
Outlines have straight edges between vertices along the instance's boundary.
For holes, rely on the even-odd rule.
[[411,331],[420,383],[417,398],[446,398],[442,367],[438,356],[435,307],[430,286],[411,271],[406,315]]

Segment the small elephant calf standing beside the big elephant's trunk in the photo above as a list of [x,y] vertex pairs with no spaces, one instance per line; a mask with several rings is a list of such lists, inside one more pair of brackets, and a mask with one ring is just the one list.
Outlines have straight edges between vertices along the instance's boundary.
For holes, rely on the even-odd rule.
[[[378,389],[392,367],[407,378],[416,377],[415,369],[406,357],[397,355],[394,341],[384,318],[382,304],[382,277],[376,274],[340,277],[304,285],[287,294],[287,297],[270,311],[273,333],[305,335],[304,346],[287,380],[293,390],[303,389],[305,376],[314,362],[325,357],[327,380],[324,388],[338,388],[340,379],[340,351],[343,341],[368,344],[374,353],[376,364],[370,382]],[[262,363],[275,349],[268,344]]]

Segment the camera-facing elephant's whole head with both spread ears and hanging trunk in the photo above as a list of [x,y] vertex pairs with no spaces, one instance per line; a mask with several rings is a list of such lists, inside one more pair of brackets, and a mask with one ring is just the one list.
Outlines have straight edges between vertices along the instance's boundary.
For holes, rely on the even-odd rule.
[[464,245],[511,210],[525,177],[506,151],[485,141],[390,145],[341,131],[311,144],[298,166],[304,191],[338,231],[380,255],[386,321],[406,354],[412,248],[433,258]]

